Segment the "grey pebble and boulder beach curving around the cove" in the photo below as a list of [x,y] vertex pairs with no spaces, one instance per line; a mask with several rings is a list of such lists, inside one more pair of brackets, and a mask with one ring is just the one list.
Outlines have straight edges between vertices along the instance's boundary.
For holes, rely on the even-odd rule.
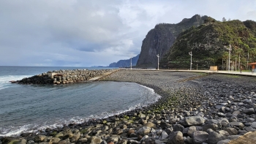
[[162,98],[109,118],[1,137],[1,143],[216,144],[256,131],[255,77],[119,70],[100,80],[139,83]]

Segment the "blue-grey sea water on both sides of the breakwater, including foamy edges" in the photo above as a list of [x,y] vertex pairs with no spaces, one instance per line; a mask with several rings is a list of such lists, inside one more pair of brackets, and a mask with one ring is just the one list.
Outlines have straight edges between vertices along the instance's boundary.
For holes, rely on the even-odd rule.
[[0,136],[18,136],[91,118],[134,110],[161,97],[137,83],[85,82],[66,85],[21,85],[10,80],[60,69],[107,67],[0,67]]

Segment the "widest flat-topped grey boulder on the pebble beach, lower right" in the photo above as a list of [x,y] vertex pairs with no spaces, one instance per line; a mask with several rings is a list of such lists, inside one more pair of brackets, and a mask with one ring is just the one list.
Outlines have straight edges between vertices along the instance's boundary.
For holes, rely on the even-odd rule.
[[183,126],[200,126],[204,124],[205,119],[200,116],[189,116],[181,121]]

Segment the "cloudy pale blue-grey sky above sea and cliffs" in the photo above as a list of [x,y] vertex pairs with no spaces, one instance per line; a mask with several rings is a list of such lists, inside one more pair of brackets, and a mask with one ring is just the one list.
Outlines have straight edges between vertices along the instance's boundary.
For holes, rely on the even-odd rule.
[[108,66],[157,23],[196,14],[256,21],[256,0],[1,0],[0,66]]

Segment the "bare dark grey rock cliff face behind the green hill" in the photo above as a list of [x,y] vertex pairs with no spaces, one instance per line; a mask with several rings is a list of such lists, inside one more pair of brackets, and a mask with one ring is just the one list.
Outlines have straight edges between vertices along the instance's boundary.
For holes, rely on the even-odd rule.
[[136,66],[157,67],[157,54],[159,54],[160,60],[167,50],[169,50],[173,45],[173,42],[176,40],[176,37],[181,33],[181,31],[185,31],[191,26],[200,26],[203,24],[206,18],[208,17],[200,17],[200,15],[195,15],[192,18],[185,18],[177,24],[157,24],[154,29],[148,31],[146,38],[143,39],[140,57]]

